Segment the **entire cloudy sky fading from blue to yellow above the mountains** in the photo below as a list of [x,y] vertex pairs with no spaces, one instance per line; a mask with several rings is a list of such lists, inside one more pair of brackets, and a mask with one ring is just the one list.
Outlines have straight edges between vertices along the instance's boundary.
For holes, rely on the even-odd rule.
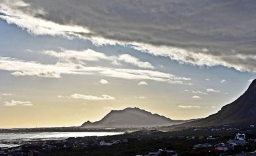
[[255,13],[253,0],[1,0],[0,128],[214,114],[256,78]]

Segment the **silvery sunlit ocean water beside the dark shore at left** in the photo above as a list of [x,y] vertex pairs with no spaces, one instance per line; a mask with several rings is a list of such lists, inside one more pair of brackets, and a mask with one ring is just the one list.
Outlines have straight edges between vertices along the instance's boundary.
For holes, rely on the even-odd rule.
[[16,147],[31,141],[61,140],[69,137],[107,136],[123,132],[28,132],[0,133],[0,147]]

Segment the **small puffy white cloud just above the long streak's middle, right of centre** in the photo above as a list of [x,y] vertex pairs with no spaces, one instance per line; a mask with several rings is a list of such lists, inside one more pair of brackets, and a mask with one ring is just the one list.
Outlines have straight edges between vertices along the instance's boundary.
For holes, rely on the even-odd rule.
[[149,62],[139,61],[139,58],[131,56],[129,54],[121,54],[118,58],[119,61],[123,61],[125,63],[129,63],[131,65],[135,65],[139,68],[143,69],[154,69],[154,67]]

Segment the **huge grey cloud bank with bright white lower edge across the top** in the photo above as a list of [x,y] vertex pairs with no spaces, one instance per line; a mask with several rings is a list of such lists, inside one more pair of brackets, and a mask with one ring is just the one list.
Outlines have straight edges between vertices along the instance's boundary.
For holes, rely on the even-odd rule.
[[179,63],[255,72],[255,5],[246,0],[3,0],[0,18],[35,35],[120,44]]

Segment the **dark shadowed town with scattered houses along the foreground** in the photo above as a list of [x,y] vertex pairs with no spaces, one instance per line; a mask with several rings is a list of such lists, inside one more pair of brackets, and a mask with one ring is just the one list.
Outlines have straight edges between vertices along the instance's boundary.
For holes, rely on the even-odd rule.
[[[132,128],[131,128],[132,129]],[[127,129],[127,130],[131,130]],[[135,130],[135,129],[134,129]],[[256,128],[236,126],[143,128],[104,137],[34,141],[0,148],[0,156],[32,155],[256,155]]]

